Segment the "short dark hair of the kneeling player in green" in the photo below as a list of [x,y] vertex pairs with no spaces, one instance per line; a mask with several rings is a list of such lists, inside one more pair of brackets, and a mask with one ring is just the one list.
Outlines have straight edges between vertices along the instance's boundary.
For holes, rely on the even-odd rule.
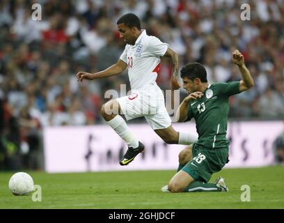
[[187,63],[187,65],[180,70],[180,77],[187,77],[192,81],[199,78],[201,82],[207,82],[207,72],[205,67],[197,62]]

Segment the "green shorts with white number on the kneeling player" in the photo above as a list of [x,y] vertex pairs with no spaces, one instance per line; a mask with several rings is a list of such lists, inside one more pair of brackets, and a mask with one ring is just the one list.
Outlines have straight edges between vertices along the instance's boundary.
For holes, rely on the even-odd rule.
[[213,173],[220,171],[228,162],[228,147],[205,149],[198,144],[192,146],[193,159],[183,168],[194,180],[207,183]]

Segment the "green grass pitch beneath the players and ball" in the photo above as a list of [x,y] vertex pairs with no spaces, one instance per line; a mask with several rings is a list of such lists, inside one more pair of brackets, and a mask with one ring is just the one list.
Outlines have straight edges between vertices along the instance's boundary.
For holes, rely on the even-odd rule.
[[[223,169],[229,192],[162,193],[175,171],[122,171],[84,174],[29,172],[42,187],[42,201],[32,194],[13,196],[0,173],[0,208],[284,208],[284,167]],[[211,181],[212,181],[211,180]],[[242,185],[251,187],[251,201],[242,202]]]

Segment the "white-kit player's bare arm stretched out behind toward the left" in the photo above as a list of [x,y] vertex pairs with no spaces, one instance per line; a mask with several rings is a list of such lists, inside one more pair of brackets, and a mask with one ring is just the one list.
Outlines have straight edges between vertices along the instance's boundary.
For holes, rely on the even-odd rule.
[[95,74],[90,74],[89,72],[78,72],[76,77],[77,81],[83,82],[83,79],[98,79],[102,77],[111,77],[115,75],[119,75],[123,70],[127,68],[127,63],[122,60],[118,60],[116,64],[110,66],[106,70],[102,70],[100,72],[96,72]]

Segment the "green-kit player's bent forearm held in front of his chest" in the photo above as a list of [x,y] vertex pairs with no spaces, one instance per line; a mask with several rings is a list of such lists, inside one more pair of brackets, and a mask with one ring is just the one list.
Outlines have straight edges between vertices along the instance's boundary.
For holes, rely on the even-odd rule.
[[193,100],[201,98],[202,96],[203,96],[202,92],[196,91],[194,93],[189,94],[186,98],[184,98],[184,100],[182,101],[182,103],[178,107],[177,116],[175,116],[175,120],[178,123],[182,123],[182,122],[186,121],[187,118],[188,118],[187,115],[188,115],[189,103],[191,103]]

